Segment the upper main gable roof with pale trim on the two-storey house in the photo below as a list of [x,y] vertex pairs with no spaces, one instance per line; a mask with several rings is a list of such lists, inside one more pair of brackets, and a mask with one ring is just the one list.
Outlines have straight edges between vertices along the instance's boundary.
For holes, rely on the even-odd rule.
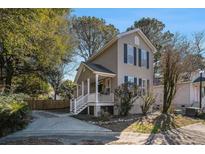
[[110,40],[103,48],[101,48],[96,54],[94,54],[93,56],[91,56],[87,61],[90,62],[92,61],[95,57],[99,56],[100,54],[102,54],[108,47],[110,47],[112,44],[114,44],[118,39],[122,38],[123,36],[132,34],[137,32],[141,38],[143,39],[143,41],[145,41],[145,43],[152,49],[153,52],[156,52],[157,49],[154,47],[154,45],[150,42],[150,40],[145,36],[145,34],[139,29],[133,29],[127,32],[123,32],[118,34],[117,36],[115,36],[112,40]]

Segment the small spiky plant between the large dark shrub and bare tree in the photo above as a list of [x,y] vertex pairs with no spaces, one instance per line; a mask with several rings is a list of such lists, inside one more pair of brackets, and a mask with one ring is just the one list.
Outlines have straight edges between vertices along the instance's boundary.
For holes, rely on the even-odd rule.
[[143,100],[143,104],[140,107],[141,107],[142,113],[146,115],[150,107],[155,103],[155,97],[153,96],[153,94],[146,94],[141,97]]

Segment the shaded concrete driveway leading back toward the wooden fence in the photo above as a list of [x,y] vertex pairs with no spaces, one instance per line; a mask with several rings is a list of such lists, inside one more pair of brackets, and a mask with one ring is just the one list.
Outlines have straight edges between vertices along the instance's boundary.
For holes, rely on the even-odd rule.
[[46,135],[66,135],[75,133],[103,133],[111,130],[70,117],[69,114],[57,114],[45,111],[33,111],[34,117],[26,129],[7,136],[27,137]]

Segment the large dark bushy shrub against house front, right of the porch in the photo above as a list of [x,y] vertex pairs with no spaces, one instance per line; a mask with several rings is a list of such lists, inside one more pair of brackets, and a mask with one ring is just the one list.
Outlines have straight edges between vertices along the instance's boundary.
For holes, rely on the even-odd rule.
[[120,115],[126,116],[135,100],[139,98],[139,89],[136,85],[125,83],[115,89],[115,96],[120,103]]

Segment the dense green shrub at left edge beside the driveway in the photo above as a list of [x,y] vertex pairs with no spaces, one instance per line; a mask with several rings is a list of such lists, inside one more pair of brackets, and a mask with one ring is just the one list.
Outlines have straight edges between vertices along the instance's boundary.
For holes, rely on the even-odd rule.
[[22,129],[28,123],[29,107],[23,94],[0,95],[0,136]]

